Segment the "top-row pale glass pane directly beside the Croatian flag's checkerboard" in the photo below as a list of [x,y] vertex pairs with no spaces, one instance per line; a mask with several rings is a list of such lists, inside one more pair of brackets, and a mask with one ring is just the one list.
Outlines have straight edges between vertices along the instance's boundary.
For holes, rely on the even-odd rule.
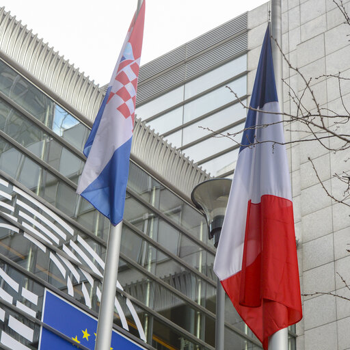
[[142,106],[136,106],[136,114],[138,118],[142,120],[146,120],[157,113],[168,109],[176,103],[180,103],[183,101],[183,85],[176,87],[176,89],[163,94],[154,100],[151,100],[148,103],[145,103]]

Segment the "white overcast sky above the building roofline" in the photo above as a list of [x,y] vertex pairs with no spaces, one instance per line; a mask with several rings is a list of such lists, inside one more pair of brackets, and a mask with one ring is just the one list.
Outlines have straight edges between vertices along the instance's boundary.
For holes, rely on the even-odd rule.
[[[146,0],[141,64],[267,0]],[[0,0],[96,83],[109,82],[137,0]]]

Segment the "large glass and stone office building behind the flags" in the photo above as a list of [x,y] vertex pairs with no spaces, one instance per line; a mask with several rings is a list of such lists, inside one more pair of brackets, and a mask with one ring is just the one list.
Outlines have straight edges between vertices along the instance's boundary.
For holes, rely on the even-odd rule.
[[[215,249],[189,196],[209,174],[232,177],[238,145],[212,136],[242,128],[239,100],[252,92],[268,17],[266,3],[140,70],[114,321],[146,349],[214,349]],[[344,21],[331,0],[282,0],[286,58],[306,77],[347,77]],[[303,79],[286,62],[283,75],[284,111],[295,114],[288,93],[302,94]],[[342,98],[332,78],[311,84],[320,107],[347,113],[346,81]],[[0,348],[38,349],[45,289],[97,316],[109,223],[75,188],[103,91],[1,10]],[[348,124],[334,128],[349,135]],[[302,293],[326,293],[302,297],[289,347],[349,349],[350,301],[327,295],[349,296],[337,274],[349,282],[349,209],[327,195],[308,160],[339,198],[346,187],[333,174],[347,171],[349,157],[304,142],[300,124],[286,122],[285,131]],[[225,317],[225,349],[261,349],[227,299]],[[83,333],[66,336],[87,345]]]

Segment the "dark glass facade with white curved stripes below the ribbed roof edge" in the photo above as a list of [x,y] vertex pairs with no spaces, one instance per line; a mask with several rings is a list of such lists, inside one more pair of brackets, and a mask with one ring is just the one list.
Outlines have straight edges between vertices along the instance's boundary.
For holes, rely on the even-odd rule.
[[[223,111],[215,113],[224,119]],[[0,124],[0,347],[38,349],[45,288],[96,317],[109,221],[75,193],[89,128],[2,61]],[[202,214],[131,162],[120,332],[148,349],[214,349],[215,250],[207,239]],[[261,349],[227,302],[229,348]]]

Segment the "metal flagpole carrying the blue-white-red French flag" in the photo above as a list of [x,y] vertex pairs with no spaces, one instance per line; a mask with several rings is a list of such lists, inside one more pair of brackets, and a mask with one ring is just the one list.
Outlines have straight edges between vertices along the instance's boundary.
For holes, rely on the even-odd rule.
[[[282,49],[282,9],[281,0],[271,0],[271,42],[273,70],[275,72],[276,90],[280,109],[283,112],[283,85],[282,85],[282,52],[278,49],[275,40]],[[280,329],[269,337],[269,350],[288,350],[288,328]]]

